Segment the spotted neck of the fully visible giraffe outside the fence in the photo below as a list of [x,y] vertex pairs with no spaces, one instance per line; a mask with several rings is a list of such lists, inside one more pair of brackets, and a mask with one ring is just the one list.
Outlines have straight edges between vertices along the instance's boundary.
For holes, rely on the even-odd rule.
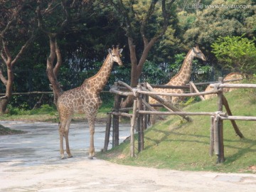
[[108,54],[98,73],[91,78],[85,80],[82,83],[82,87],[89,89],[90,92],[100,94],[100,92],[107,84],[108,79],[110,78],[113,64],[114,61],[112,60],[110,54]]

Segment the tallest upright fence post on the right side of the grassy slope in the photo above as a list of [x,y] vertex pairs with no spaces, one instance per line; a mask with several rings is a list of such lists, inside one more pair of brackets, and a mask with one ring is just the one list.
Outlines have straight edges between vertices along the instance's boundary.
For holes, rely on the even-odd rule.
[[[223,84],[223,78],[218,78],[220,84]],[[223,88],[218,88],[218,111],[223,111]],[[218,152],[218,163],[223,163],[224,159],[224,141],[223,141],[223,119],[218,121],[218,142],[219,142],[219,152]]]

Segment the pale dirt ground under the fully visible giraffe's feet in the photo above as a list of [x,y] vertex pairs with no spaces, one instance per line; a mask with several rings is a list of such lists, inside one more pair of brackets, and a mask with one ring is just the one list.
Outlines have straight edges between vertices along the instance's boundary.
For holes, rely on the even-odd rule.
[[[256,188],[256,174],[151,169],[87,159],[89,140],[84,124],[72,124],[70,148],[74,157],[64,160],[60,160],[58,154],[57,124],[0,124],[28,132],[0,136],[0,191],[245,192],[255,191]],[[97,150],[102,148],[104,142],[104,127],[96,125]],[[124,126],[124,136],[128,131],[126,129]]]

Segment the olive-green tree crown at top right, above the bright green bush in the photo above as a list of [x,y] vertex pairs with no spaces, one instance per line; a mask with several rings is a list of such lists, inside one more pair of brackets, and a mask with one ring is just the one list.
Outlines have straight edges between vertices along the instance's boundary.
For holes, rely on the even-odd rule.
[[[226,8],[214,6],[223,5]],[[234,9],[230,5],[252,5],[246,9]],[[196,20],[188,28],[183,38],[189,44],[197,42],[207,48],[219,36],[255,35],[255,11],[251,0],[225,1],[214,0],[210,6],[198,11]]]

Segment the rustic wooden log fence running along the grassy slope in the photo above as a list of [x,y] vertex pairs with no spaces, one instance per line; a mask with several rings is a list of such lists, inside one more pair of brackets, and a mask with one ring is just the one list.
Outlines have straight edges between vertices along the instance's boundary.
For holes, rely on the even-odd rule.
[[[154,85],[154,87],[157,87]],[[161,85],[160,87],[164,87]],[[105,137],[105,146],[104,150],[107,150],[107,145],[110,138],[110,127],[111,127],[111,115],[113,116],[113,146],[119,144],[119,116],[130,117],[131,118],[131,129],[130,129],[130,155],[133,157],[135,155],[134,149],[134,132],[135,129],[138,132],[138,151],[144,149],[144,129],[146,129],[147,124],[147,114],[158,114],[158,115],[179,115],[186,119],[188,122],[191,122],[192,119],[189,116],[193,115],[208,115],[210,116],[210,156],[213,156],[215,153],[218,156],[217,162],[224,162],[224,144],[223,144],[223,120],[230,120],[233,124],[236,134],[239,137],[243,137],[242,133],[238,129],[235,120],[250,120],[256,121],[256,117],[244,117],[244,116],[233,116],[228,106],[228,101],[223,95],[223,88],[256,88],[255,84],[224,84],[223,78],[219,78],[218,82],[213,82],[210,84],[210,87],[213,87],[213,90],[208,92],[199,92],[196,88],[196,85],[193,82],[190,82],[190,86],[166,86],[167,88],[176,88],[176,89],[189,89],[191,92],[188,93],[166,93],[166,92],[154,92],[154,89],[149,83],[142,83],[137,85],[137,87],[132,88],[124,82],[118,81],[114,83],[114,86],[111,87],[110,92],[114,93],[114,110],[110,112],[107,116],[107,127],[106,127],[106,137]],[[199,96],[203,100],[203,95],[208,94],[217,94],[218,95],[218,110],[216,112],[183,112],[177,107],[172,105],[171,102],[167,102],[162,99],[160,96],[171,96],[171,97],[194,97]],[[134,105],[132,108],[120,109],[121,97],[133,96]],[[152,97],[161,103],[162,106],[166,107],[168,112],[158,112],[154,110],[151,105],[148,103],[148,97]],[[226,108],[227,112],[223,112],[223,105]],[[127,111],[131,111],[132,114],[129,114]]]

